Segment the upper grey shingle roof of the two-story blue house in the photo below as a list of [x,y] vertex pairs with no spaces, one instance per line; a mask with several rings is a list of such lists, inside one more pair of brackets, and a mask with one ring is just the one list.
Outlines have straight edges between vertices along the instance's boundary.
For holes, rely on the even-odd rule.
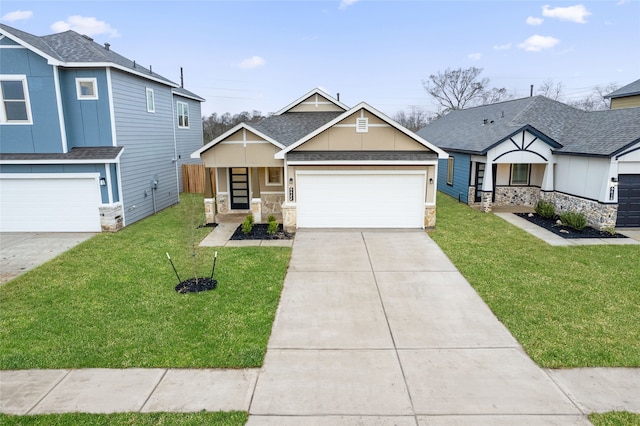
[[107,46],[102,46],[90,37],[69,30],[43,37],[20,31],[0,24],[0,33],[21,46],[44,57],[51,65],[67,67],[113,67],[153,80],[171,87],[178,87],[173,81],[152,72],[135,61],[125,58]]

